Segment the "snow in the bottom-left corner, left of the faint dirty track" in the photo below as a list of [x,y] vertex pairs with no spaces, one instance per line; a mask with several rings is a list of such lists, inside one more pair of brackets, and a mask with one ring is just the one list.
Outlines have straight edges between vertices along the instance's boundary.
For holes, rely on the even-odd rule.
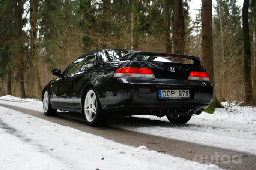
[[4,170],[60,170],[67,167],[35,146],[24,143],[14,135],[0,128],[0,167]]

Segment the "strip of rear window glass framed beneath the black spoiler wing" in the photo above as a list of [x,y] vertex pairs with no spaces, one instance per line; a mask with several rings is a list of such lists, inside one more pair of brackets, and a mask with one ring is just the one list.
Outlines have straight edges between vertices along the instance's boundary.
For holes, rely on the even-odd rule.
[[194,64],[192,59],[176,58],[169,56],[149,56],[149,55],[137,55],[133,60],[135,61],[158,61],[158,62],[178,62],[185,64]]

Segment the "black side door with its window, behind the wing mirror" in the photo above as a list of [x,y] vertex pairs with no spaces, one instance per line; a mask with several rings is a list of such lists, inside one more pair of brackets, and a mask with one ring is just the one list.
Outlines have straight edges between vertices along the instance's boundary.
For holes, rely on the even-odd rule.
[[55,106],[74,108],[74,77],[80,70],[87,54],[77,58],[63,72],[62,77],[57,78],[53,84],[53,104]]

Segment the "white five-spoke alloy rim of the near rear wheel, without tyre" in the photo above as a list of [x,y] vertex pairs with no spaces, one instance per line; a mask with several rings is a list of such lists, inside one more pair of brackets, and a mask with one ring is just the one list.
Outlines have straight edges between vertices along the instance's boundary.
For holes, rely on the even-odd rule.
[[84,100],[84,113],[86,120],[92,122],[95,118],[97,110],[96,94],[93,90],[89,90]]

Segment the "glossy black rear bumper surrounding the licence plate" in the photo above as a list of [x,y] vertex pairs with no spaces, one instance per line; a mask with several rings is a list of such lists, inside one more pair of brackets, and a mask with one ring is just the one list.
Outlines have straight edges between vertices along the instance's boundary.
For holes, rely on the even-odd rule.
[[[188,89],[190,99],[159,99],[158,89]],[[212,101],[213,87],[208,81],[116,78],[99,98],[106,111],[154,109],[205,109]]]

